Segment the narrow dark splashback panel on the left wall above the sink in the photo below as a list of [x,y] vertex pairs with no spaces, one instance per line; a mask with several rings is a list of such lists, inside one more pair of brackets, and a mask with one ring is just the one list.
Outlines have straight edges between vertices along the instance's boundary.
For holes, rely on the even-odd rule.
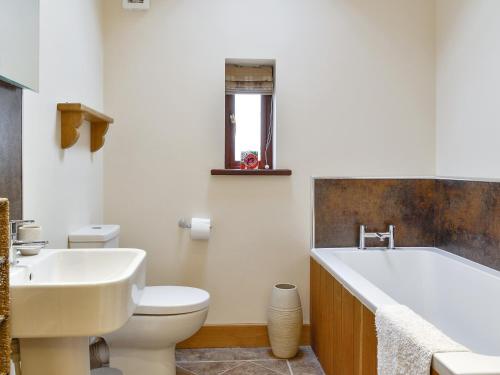
[[22,218],[22,90],[0,81],[0,197]]

